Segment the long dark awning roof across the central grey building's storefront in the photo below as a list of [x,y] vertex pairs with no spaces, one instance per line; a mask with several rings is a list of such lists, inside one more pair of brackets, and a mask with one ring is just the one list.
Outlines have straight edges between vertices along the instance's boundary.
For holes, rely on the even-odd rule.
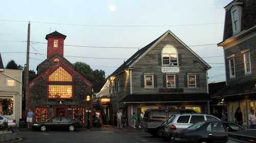
[[167,103],[167,102],[202,102],[210,101],[208,94],[130,94],[121,103]]

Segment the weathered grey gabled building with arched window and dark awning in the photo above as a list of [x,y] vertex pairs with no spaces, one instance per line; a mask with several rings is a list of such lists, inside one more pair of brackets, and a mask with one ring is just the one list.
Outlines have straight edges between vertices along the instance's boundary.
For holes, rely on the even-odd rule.
[[111,112],[131,125],[149,108],[189,108],[209,113],[210,66],[172,32],[138,50],[109,77]]

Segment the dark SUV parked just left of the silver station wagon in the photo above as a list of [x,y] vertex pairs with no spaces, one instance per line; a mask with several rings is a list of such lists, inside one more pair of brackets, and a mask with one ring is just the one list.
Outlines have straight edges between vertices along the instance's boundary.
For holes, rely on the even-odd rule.
[[160,125],[176,113],[196,113],[192,109],[147,109],[142,120],[142,129],[152,135],[161,135]]

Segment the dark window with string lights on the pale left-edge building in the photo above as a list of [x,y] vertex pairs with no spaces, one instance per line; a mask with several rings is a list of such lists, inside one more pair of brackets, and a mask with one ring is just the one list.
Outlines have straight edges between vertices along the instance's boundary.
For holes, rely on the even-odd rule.
[[0,98],[0,114],[13,115],[13,98]]

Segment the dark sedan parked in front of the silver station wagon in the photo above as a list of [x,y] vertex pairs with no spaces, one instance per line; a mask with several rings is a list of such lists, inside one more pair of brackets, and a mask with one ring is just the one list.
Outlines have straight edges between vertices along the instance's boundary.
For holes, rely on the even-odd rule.
[[184,130],[174,132],[171,142],[226,142],[228,133],[244,129],[246,128],[232,122],[199,122]]

